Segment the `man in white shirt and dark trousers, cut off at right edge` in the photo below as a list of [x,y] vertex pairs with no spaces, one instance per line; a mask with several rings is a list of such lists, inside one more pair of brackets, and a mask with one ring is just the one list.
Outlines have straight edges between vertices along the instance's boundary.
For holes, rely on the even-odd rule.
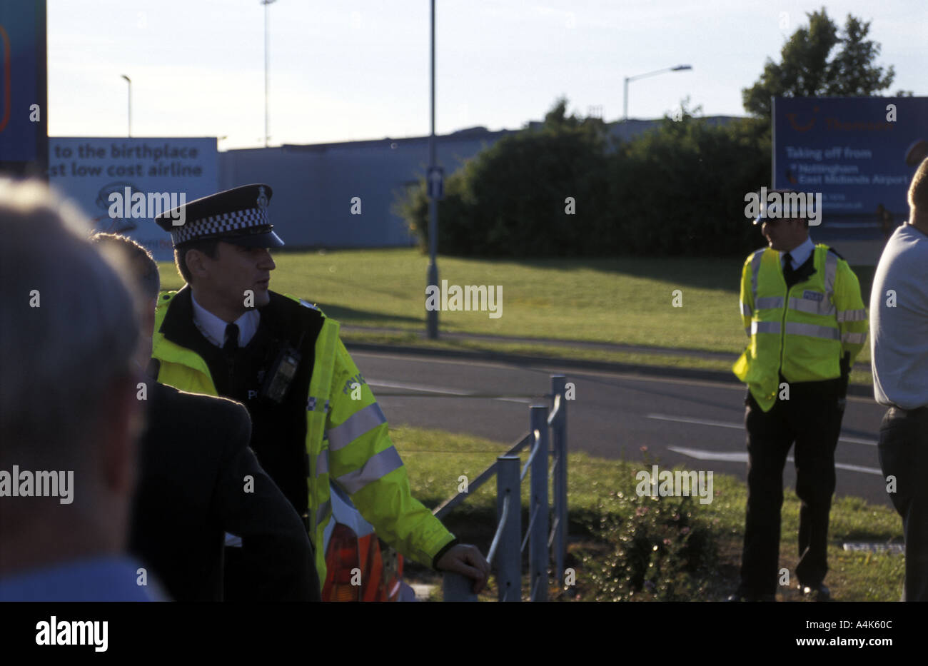
[[880,466],[906,538],[903,599],[928,601],[928,160],[909,186],[909,222],[873,276],[870,330],[873,394],[889,407]]

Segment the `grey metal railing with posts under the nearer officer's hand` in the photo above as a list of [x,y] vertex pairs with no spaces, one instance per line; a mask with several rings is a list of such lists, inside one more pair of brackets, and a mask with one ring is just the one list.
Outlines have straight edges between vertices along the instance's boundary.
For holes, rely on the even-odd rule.
[[[496,458],[472,482],[466,492],[458,493],[434,510],[439,519],[458,506],[477,488],[496,475],[496,532],[487,560],[496,565],[496,581],[500,601],[522,601],[522,552],[528,545],[529,600],[548,600],[549,551],[553,551],[554,576],[561,581],[564,574],[564,553],[567,546],[567,378],[551,376],[553,406],[529,407],[530,429],[509,451]],[[550,436],[549,430],[550,429]],[[520,471],[519,452],[531,445],[528,460]],[[548,470],[548,453],[553,465]],[[529,520],[522,539],[522,480],[529,479]],[[548,480],[553,477],[552,501],[548,506]],[[553,516],[550,531],[548,523]],[[445,601],[476,601],[469,578],[445,572]]]

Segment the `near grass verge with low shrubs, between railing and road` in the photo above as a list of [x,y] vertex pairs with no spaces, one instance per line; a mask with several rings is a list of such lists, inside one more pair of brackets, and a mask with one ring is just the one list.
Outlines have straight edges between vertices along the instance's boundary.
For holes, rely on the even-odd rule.
[[[473,480],[507,448],[506,444],[469,435],[415,428],[393,429],[393,442],[406,461],[413,493],[430,507],[438,506],[458,492],[461,475]],[[629,511],[630,507],[649,506],[648,503],[651,503],[652,510],[656,510],[658,507],[654,503],[680,502],[679,498],[672,497],[638,498],[635,493],[638,483],[636,473],[650,468],[651,462],[660,461],[645,463],[640,459],[647,454],[638,450],[626,452],[626,455],[628,460],[605,460],[583,453],[570,455],[568,503],[571,539],[566,566],[576,571],[576,584],[564,591],[561,599],[610,598],[609,589],[602,584],[604,577],[601,570],[608,569],[607,563],[617,557],[616,531],[602,529],[603,521],[616,523],[618,531],[622,531],[629,524],[636,527],[630,521],[643,523],[644,519],[637,515],[641,513],[640,508]],[[525,459],[523,454],[522,460]],[[713,486],[715,496],[710,504],[689,502],[686,509],[690,514],[691,529],[706,535],[712,550],[707,566],[691,577],[694,588],[699,588],[699,593],[691,596],[691,600],[722,599],[738,583],[746,489],[740,480],[720,474],[714,474]],[[522,489],[523,506],[527,492],[526,480]],[[474,491],[445,519],[452,532],[466,542],[479,545],[484,553],[496,527],[495,493],[496,482],[490,481]],[[799,501],[792,491],[785,495],[780,567],[788,568],[794,575],[798,560]],[[676,509],[672,509],[671,513],[673,510]],[[527,518],[523,512],[523,530]],[[896,513],[888,507],[870,506],[856,497],[837,497],[831,508],[831,571],[826,583],[831,587],[832,595],[842,601],[897,600],[904,572],[903,556],[847,552],[841,547],[844,541],[901,541],[901,523]],[[523,570],[527,570],[527,566]],[[440,583],[436,576],[419,567],[410,567],[410,577]],[[794,586],[795,580],[791,582]],[[495,580],[491,583],[490,590],[482,598],[496,598]],[[646,590],[638,598],[648,600],[654,596]],[[782,588],[779,598],[797,600],[798,596],[793,589]]]

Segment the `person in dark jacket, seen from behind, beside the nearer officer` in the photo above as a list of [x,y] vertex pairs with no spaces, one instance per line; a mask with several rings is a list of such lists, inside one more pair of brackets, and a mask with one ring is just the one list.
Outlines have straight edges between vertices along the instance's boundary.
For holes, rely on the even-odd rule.
[[[144,297],[137,359],[148,364],[158,298],[158,265],[130,238],[97,234],[103,251],[129,255]],[[239,403],[177,391],[146,378],[148,403],[129,550],[177,601],[223,598],[227,533],[241,538],[242,557],[261,572],[251,598],[318,601],[319,584],[303,520],[249,448],[251,419]]]

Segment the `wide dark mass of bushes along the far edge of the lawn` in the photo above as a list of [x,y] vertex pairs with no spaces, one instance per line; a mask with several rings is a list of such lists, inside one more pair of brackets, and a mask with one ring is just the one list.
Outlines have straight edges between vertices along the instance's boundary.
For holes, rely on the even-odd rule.
[[[744,195],[770,181],[767,125],[680,120],[609,147],[597,119],[566,116],[498,141],[445,182],[438,250],[458,256],[743,255],[757,245]],[[698,109],[697,109],[698,110]],[[573,197],[574,214],[565,199]],[[395,208],[428,248],[425,181]]]

